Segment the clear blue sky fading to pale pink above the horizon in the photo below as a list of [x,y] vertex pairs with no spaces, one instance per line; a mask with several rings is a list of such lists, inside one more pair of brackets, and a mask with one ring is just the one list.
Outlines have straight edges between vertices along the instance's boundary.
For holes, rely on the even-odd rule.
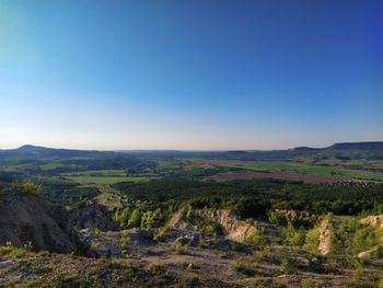
[[383,1],[0,1],[0,149],[383,140]]

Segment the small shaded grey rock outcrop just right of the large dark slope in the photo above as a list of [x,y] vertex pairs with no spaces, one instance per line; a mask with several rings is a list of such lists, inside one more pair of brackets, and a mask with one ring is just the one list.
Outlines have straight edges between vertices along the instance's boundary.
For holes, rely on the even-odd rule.
[[70,211],[70,222],[78,229],[118,230],[118,224],[111,219],[106,207],[98,204],[92,204]]

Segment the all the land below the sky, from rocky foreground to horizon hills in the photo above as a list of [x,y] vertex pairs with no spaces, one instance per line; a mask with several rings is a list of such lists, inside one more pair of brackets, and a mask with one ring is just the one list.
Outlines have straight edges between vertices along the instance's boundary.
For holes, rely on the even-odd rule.
[[378,288],[381,145],[2,150],[0,286]]

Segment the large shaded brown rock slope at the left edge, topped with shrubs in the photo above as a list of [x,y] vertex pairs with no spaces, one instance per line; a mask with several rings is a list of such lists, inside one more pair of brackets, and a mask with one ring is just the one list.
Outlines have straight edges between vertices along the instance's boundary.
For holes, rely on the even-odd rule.
[[68,253],[76,250],[76,237],[67,211],[36,195],[5,194],[0,198],[0,245]]

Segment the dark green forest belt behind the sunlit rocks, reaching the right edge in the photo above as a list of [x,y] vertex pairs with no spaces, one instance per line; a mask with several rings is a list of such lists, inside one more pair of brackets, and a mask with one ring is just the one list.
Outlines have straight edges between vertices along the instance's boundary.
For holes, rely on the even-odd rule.
[[148,183],[119,183],[115,188],[134,200],[152,205],[185,204],[194,208],[230,208],[243,217],[254,217],[269,209],[309,210],[315,214],[383,214],[382,184],[313,185],[277,180],[204,182],[166,177]]

